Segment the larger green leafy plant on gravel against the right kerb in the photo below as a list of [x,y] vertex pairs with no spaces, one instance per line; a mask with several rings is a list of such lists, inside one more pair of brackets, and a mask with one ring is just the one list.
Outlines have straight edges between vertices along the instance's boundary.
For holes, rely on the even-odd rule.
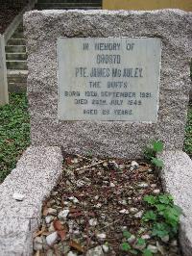
[[174,237],[178,232],[181,209],[174,204],[172,195],[145,195],[143,200],[151,209],[143,215],[142,220],[152,222],[152,235]]

